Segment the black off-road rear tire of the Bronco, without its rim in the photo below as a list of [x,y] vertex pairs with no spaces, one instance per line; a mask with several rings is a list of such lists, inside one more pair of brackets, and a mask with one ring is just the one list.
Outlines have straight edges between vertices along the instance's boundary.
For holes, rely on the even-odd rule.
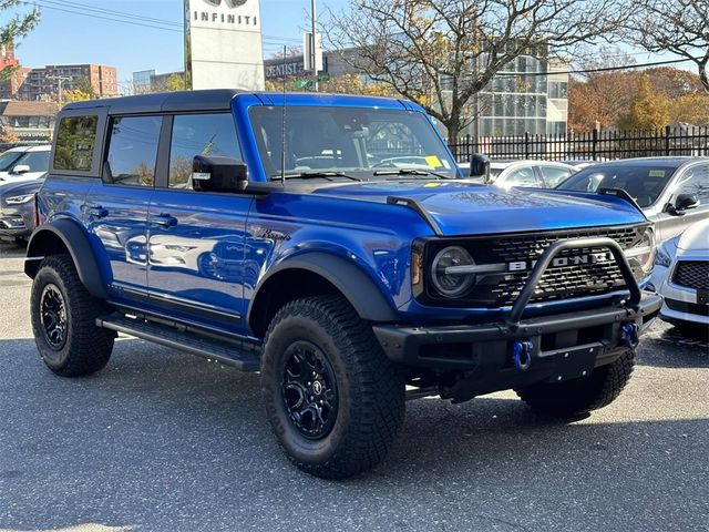
[[[58,348],[44,332],[41,316],[42,294],[53,285],[65,305],[65,340]],[[96,317],[109,311],[106,304],[93,297],[79,279],[69,255],[51,255],[42,260],[32,283],[30,313],[34,342],[42,361],[62,377],[91,375],[107,364],[115,332],[96,327]]]

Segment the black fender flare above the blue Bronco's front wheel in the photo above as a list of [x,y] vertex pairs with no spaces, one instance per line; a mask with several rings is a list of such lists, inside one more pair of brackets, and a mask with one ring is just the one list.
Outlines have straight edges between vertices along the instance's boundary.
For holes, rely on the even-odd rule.
[[268,297],[269,280],[289,269],[305,269],[328,280],[348,299],[362,319],[369,321],[398,321],[400,319],[382,290],[361,268],[337,255],[311,252],[285,259],[259,280],[246,315],[251,330],[254,330],[254,308],[263,303],[259,301],[259,297]]

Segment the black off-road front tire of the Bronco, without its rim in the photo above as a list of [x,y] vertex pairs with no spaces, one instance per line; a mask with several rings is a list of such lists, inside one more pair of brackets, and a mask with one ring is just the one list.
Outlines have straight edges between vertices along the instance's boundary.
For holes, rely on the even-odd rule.
[[[306,340],[333,370],[337,416],[329,433],[309,440],[287,411],[286,351]],[[404,418],[403,372],[383,354],[371,326],[341,296],[286,304],[268,327],[261,359],[266,415],[290,461],[316,477],[343,479],[380,463]]]

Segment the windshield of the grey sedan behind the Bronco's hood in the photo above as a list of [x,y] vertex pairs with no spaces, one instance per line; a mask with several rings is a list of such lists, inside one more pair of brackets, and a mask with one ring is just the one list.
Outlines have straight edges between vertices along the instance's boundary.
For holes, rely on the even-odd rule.
[[556,188],[559,191],[596,192],[600,187],[621,188],[641,207],[653,205],[660,196],[677,166],[628,164],[592,166],[572,175]]

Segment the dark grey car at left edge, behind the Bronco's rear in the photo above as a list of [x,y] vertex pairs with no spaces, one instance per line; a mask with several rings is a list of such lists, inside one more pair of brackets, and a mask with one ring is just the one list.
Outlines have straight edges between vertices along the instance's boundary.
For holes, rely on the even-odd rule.
[[34,195],[44,177],[0,183],[0,238],[23,241],[34,229]]

